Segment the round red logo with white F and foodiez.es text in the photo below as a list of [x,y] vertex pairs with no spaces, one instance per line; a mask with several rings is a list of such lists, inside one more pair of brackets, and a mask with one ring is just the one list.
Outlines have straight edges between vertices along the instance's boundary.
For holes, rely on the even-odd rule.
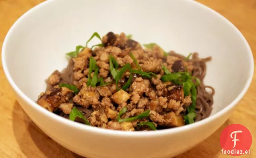
[[252,135],[244,125],[231,124],[221,133],[221,154],[239,156],[251,154]]

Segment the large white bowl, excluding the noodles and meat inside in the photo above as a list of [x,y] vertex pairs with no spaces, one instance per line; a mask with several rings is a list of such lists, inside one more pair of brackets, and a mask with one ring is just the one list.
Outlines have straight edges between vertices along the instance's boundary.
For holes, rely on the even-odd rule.
[[[75,123],[35,103],[45,78],[94,31],[132,33],[140,43],[212,56],[205,83],[216,90],[210,117],[183,127],[124,132]],[[95,41],[94,41],[95,42]],[[250,47],[223,16],[191,0],[49,0],[14,23],[2,47],[4,72],[17,100],[53,140],[87,158],[163,158],[196,146],[231,115],[252,80]]]

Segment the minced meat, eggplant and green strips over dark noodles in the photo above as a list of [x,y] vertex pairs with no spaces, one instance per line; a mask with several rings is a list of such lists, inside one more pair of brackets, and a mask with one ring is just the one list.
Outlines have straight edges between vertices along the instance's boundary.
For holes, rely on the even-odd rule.
[[[93,37],[101,43],[89,48]],[[85,46],[66,53],[68,66],[47,78],[37,103],[72,121],[124,131],[179,127],[208,117],[215,90],[203,79],[211,57],[143,46],[131,35],[109,32],[101,39],[95,32]]]

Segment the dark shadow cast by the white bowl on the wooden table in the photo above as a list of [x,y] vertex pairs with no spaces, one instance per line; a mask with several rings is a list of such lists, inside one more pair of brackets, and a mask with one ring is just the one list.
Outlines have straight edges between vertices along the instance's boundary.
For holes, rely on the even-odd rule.
[[[19,122],[19,123],[18,123]],[[228,125],[226,121],[213,135],[201,142],[198,146],[192,148],[175,158],[216,158],[219,155],[221,146],[219,136],[221,131]],[[23,154],[27,158],[84,158],[74,154],[66,148],[60,146],[48,137],[25,113],[18,101],[14,103],[12,112],[12,128],[15,139]],[[214,146],[214,148],[213,148]],[[211,149],[206,151],[206,149]]]

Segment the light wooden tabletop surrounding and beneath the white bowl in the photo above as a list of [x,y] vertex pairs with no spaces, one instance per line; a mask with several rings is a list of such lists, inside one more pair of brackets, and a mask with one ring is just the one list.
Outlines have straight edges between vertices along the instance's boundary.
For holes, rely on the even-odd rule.
[[[0,48],[11,25],[27,10],[43,0],[0,0]],[[198,0],[225,16],[246,37],[256,53],[256,0]],[[81,158],[45,135],[23,111],[0,64],[0,158]],[[177,158],[227,158],[221,155],[219,136],[229,124],[248,127],[253,141],[251,155],[256,157],[256,78],[233,115],[207,140]]]

